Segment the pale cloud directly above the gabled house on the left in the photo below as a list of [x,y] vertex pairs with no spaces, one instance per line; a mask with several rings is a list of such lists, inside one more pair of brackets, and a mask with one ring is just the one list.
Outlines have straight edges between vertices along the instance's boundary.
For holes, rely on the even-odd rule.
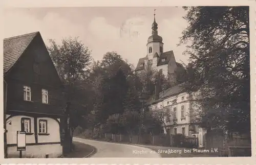
[[40,20],[20,11],[7,12],[4,27],[5,38],[39,31],[46,44],[48,39],[60,42],[65,37],[82,35],[84,29],[54,12],[47,13]]

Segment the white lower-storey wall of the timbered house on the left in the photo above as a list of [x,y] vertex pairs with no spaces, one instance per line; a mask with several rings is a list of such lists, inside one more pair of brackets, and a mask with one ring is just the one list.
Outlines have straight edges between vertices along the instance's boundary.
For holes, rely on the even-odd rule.
[[[60,131],[59,123],[50,117],[32,117],[27,115],[7,115],[7,122],[11,121],[11,125],[7,125],[7,153],[8,158],[18,157],[17,151],[17,131],[21,130],[22,117],[30,119],[30,132],[26,135],[26,151],[23,151],[24,157],[57,157],[62,154],[62,146],[60,145]],[[47,134],[40,135],[39,133],[39,120],[47,120]],[[60,119],[57,119],[60,121]],[[37,126],[35,127],[35,122]]]

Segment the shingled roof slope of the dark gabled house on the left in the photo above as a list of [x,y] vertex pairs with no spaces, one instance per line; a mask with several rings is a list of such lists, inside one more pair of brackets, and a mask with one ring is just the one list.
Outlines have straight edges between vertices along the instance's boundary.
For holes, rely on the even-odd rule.
[[39,32],[4,39],[4,75],[14,66]]

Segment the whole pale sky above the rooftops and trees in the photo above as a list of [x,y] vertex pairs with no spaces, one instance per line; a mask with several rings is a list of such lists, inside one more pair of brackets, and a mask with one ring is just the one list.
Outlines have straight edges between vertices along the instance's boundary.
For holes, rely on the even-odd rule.
[[47,45],[48,39],[61,43],[63,38],[79,37],[92,50],[94,60],[114,51],[136,66],[146,56],[154,9],[163,52],[173,50],[176,61],[187,64],[188,56],[182,54],[185,45],[177,46],[188,26],[181,7],[6,8],[4,37],[39,31]]

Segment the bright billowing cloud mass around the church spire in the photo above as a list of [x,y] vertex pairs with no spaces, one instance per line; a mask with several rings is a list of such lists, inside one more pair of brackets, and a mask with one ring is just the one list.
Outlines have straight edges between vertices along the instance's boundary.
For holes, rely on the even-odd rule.
[[[96,57],[102,57],[107,51],[116,51],[124,59],[137,65],[138,59],[145,57],[147,38],[151,35],[152,20],[144,17],[133,17],[125,20],[119,28],[110,25],[105,18],[94,18],[90,25],[90,32],[95,42],[93,52]],[[177,48],[179,37],[186,22],[178,18],[164,19],[158,23],[159,35],[163,37],[164,51],[173,50],[177,62],[187,63],[187,57],[182,55],[185,46]]]

